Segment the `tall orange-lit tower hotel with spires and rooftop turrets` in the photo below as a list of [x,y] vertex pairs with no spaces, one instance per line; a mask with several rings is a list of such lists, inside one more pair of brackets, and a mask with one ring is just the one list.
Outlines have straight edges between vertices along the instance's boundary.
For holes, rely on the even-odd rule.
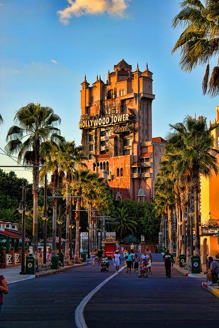
[[165,140],[152,138],[152,72],[124,59],[107,81],[86,76],[81,90],[82,145],[92,172],[107,179],[115,199],[152,201]]

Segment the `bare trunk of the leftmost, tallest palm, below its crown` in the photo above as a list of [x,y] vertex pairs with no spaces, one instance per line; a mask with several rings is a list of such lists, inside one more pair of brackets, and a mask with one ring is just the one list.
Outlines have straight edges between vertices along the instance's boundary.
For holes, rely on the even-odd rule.
[[33,257],[37,263],[38,252],[38,229],[37,229],[37,201],[38,201],[38,189],[39,189],[39,169],[33,168]]

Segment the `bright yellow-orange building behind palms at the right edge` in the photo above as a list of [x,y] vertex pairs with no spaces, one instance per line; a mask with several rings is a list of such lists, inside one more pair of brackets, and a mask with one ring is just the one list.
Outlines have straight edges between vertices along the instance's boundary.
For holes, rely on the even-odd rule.
[[[216,107],[216,119],[219,122],[219,106]],[[211,124],[211,123],[210,123]],[[212,132],[215,149],[219,150],[219,128]],[[219,155],[216,155],[219,165]],[[219,253],[219,175],[212,172],[209,179],[201,176],[201,260],[206,263],[207,256]]]

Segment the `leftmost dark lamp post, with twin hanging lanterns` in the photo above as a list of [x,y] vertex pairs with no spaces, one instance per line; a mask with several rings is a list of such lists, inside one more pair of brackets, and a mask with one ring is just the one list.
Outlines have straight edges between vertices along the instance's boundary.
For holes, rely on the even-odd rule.
[[26,215],[30,213],[28,210],[28,206],[26,206],[26,190],[23,188],[22,190],[22,200],[19,204],[19,208],[17,211],[22,214],[22,267],[20,275],[26,275],[25,271],[25,235],[26,235]]

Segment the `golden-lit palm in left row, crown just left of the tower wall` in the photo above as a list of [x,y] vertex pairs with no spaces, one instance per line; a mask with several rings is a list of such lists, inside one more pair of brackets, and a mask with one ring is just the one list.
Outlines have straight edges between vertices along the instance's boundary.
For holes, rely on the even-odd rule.
[[[64,178],[63,194],[66,199],[66,244],[65,259],[69,258],[69,218],[70,218],[70,202],[71,202],[71,183],[74,179],[74,172],[79,166],[86,167],[82,160],[87,159],[83,155],[83,147],[76,147],[74,141],[66,141],[61,146],[61,152],[58,153],[58,162],[60,174]],[[79,228],[79,227],[78,227]]]

